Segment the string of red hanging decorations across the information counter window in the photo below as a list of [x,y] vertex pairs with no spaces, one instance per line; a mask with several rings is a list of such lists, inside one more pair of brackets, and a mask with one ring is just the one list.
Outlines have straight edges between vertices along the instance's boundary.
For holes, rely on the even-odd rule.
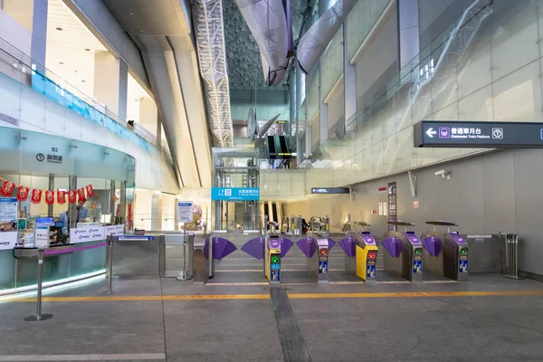
[[[17,190],[17,200],[20,202],[26,201],[28,199],[28,196],[30,195],[30,201],[32,201],[33,204],[40,204],[42,202],[42,195],[45,194],[45,204],[54,204],[55,191],[33,188],[31,193],[30,187],[24,185],[17,186],[14,182],[10,182],[9,180],[0,177],[0,195],[4,197],[10,197],[14,193],[15,189]],[[66,200],[66,195],[68,195],[68,200]],[[77,190],[56,191],[56,202],[59,205],[66,204],[66,201],[68,201],[70,204],[73,204],[78,199],[80,201],[87,201],[87,197],[94,197],[97,200],[100,198],[99,195],[96,195],[96,193],[94,192],[94,188],[92,187],[92,185],[87,185]]]

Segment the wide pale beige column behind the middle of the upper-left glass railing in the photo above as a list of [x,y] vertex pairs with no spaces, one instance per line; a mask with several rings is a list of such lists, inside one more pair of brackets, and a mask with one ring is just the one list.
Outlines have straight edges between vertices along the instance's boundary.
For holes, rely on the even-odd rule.
[[122,120],[127,120],[128,76],[125,62],[108,51],[95,52],[93,96]]

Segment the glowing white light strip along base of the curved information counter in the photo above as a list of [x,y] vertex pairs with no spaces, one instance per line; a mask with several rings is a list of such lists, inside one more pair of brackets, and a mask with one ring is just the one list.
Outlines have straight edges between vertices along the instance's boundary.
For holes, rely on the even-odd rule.
[[[46,281],[43,283],[44,292],[60,291],[67,288],[80,286],[89,282],[104,279],[106,270],[92,271],[76,277],[59,279],[58,281]],[[0,291],[0,301],[31,297],[36,294],[38,284],[28,285],[22,288],[12,288]]]

